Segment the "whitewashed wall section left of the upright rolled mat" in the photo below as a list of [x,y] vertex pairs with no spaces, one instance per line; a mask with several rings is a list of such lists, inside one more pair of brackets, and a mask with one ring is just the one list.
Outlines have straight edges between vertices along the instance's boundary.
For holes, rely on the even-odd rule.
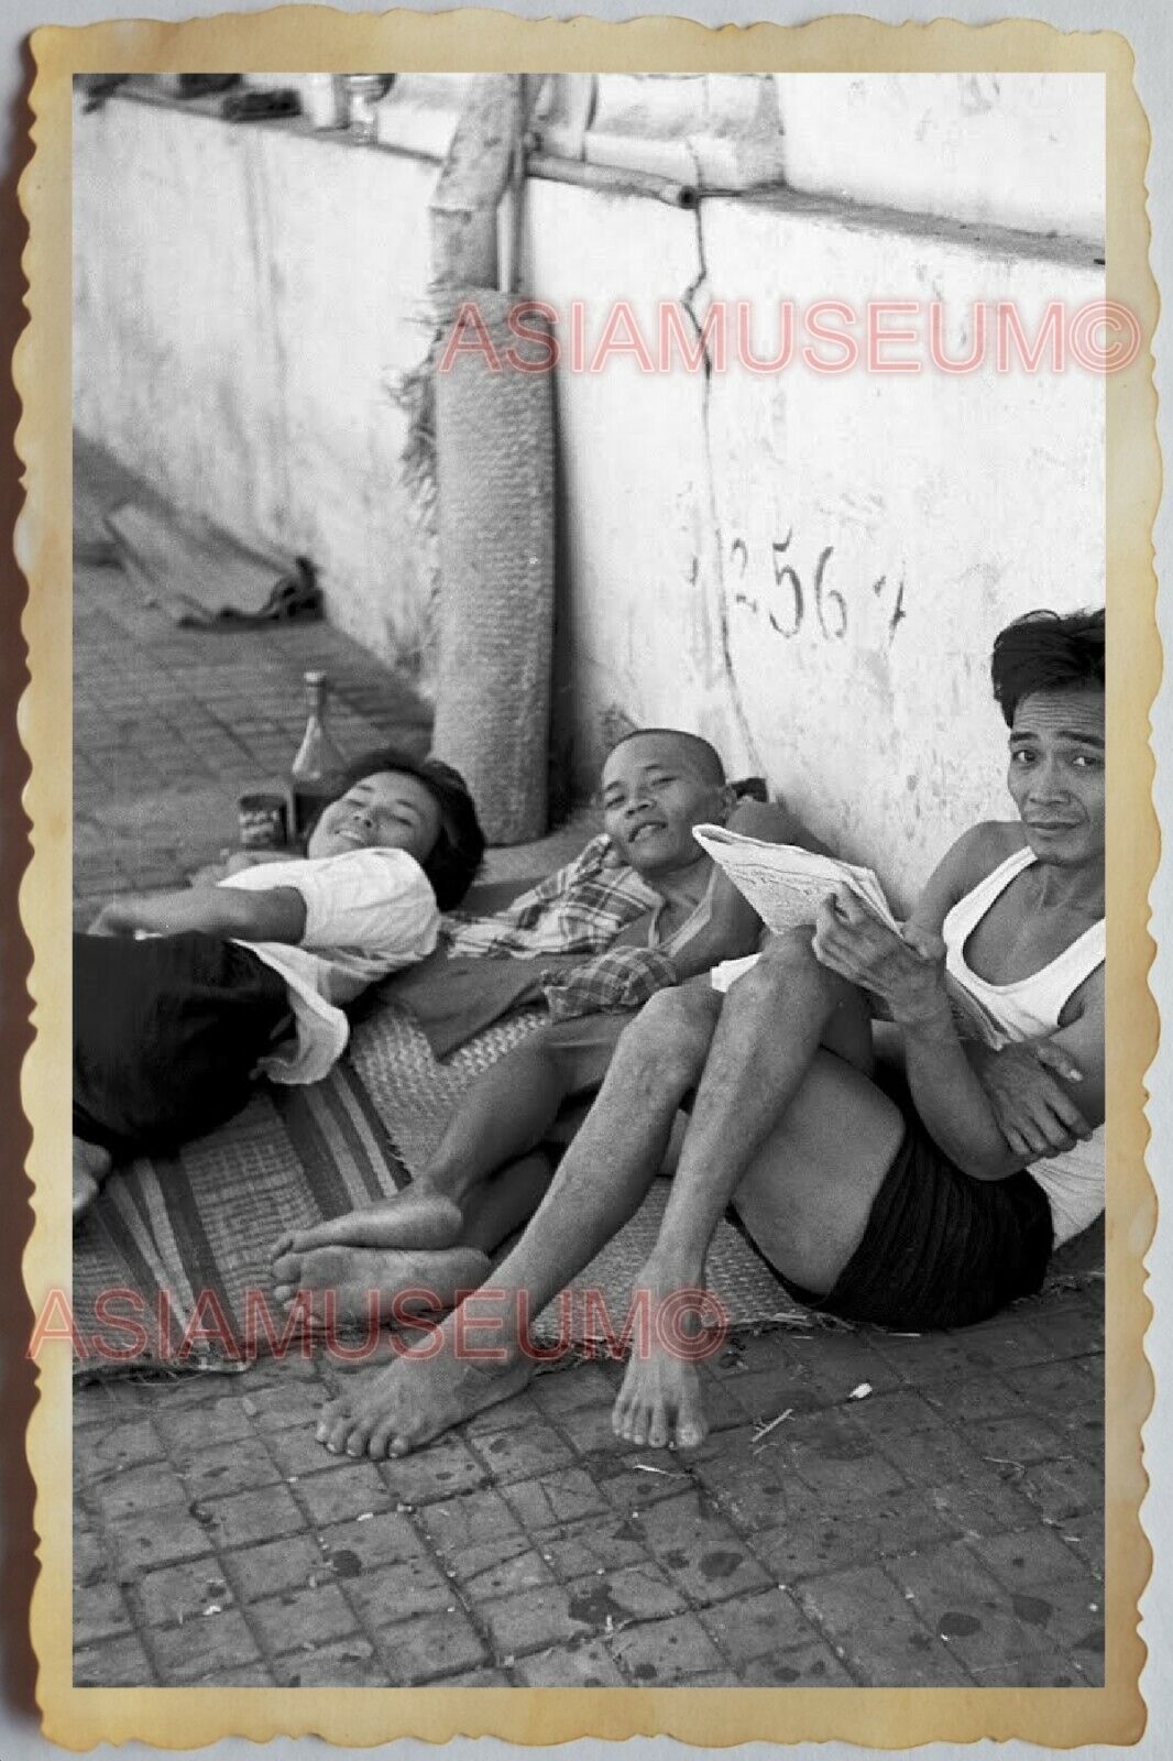
[[305,553],[386,659],[424,639],[389,396],[430,333],[435,166],[114,99],[74,114],[77,426],[181,509]]

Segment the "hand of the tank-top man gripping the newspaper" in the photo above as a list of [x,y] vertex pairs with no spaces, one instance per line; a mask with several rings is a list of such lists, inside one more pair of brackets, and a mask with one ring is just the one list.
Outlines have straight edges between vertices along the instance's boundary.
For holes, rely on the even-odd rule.
[[851,888],[819,907],[812,947],[821,965],[881,997],[902,1027],[951,1021],[941,937],[893,933]]

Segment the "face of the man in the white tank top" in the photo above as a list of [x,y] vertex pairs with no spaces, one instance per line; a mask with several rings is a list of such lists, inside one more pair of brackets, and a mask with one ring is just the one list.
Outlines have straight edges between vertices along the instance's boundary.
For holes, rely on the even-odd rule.
[[1023,697],[1009,748],[1009,792],[1039,861],[1060,868],[1103,861],[1103,690],[1037,690]]

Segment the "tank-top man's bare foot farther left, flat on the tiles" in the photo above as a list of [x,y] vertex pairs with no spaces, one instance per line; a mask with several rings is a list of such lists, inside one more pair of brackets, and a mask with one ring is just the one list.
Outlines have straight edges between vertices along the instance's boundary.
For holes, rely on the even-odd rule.
[[451,1321],[439,1337],[442,1349],[435,1356],[403,1356],[356,1375],[345,1395],[322,1409],[317,1440],[333,1455],[407,1455],[520,1395],[534,1374],[532,1361],[514,1352],[504,1363],[458,1356]]

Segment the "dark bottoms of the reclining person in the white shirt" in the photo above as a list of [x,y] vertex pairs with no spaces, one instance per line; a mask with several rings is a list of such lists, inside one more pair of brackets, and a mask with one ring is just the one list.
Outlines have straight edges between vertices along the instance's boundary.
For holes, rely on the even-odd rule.
[[74,935],[74,1136],[171,1150],[248,1101],[289,1018],[282,977],[217,935]]

